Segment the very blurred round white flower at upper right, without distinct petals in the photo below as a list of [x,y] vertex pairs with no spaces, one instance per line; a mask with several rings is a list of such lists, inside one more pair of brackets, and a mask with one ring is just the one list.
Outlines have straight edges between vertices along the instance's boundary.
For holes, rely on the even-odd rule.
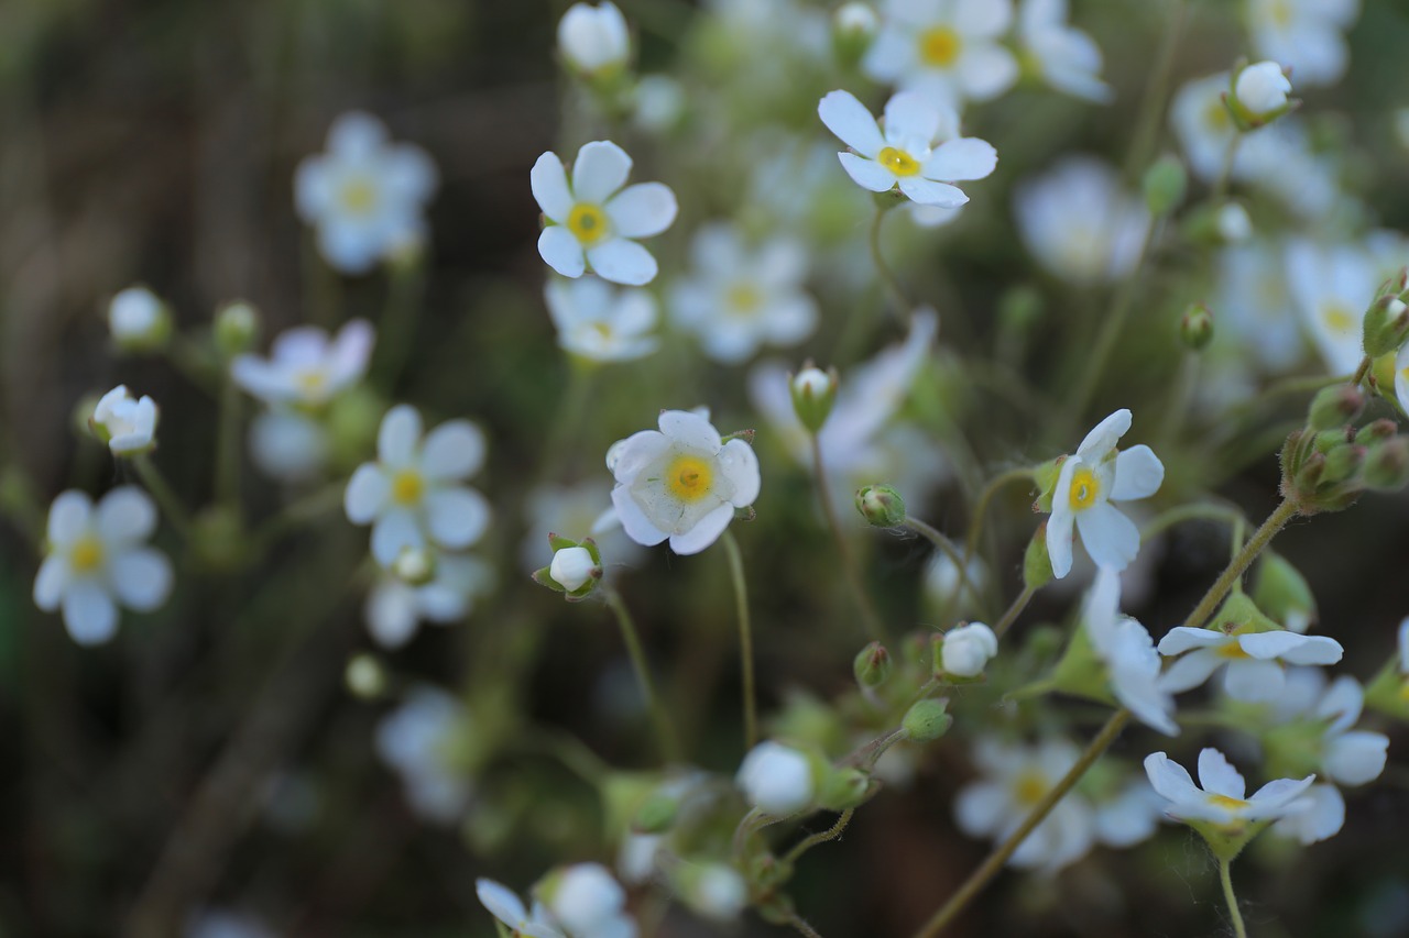
[[1130,273],[1150,228],[1150,210],[1123,192],[1116,170],[1068,156],[1017,187],[1017,232],[1048,273],[1068,283],[1110,283]]

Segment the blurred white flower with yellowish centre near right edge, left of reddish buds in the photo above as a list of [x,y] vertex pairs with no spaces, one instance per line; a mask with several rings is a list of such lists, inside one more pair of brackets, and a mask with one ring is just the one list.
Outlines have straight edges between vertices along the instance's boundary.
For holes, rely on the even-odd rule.
[[1296,239],[1286,245],[1286,276],[1326,368],[1354,372],[1365,354],[1365,310],[1379,284],[1374,262],[1358,245]]

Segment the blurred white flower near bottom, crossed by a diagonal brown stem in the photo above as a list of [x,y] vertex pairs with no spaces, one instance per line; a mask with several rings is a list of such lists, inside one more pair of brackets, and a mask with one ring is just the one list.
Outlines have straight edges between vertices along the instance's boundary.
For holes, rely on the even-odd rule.
[[[981,782],[964,787],[954,800],[954,820],[969,837],[1006,839],[1072,765],[1078,751],[1065,741],[1048,739],[1034,748],[981,739],[974,762]],[[1033,828],[1009,858],[1019,869],[1057,870],[1081,859],[1095,839],[1091,803],[1071,793]]]

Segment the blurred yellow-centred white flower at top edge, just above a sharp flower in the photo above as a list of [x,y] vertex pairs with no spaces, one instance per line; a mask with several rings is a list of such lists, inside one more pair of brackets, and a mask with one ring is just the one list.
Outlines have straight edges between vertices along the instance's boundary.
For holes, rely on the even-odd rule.
[[889,0],[861,68],[950,107],[985,101],[1017,80],[1017,59],[1002,45],[1012,21],[1009,0]]

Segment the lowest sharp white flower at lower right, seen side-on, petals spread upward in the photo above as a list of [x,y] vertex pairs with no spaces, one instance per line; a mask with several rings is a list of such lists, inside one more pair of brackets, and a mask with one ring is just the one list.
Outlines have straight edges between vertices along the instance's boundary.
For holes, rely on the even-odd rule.
[[1199,782],[1203,787],[1193,784],[1184,766],[1162,752],[1147,755],[1144,765],[1150,784],[1169,801],[1165,806],[1169,817],[1179,821],[1212,821],[1219,827],[1274,821],[1296,814],[1310,807],[1302,794],[1316,779],[1315,775],[1301,780],[1277,779],[1258,789],[1253,797],[1244,799],[1247,784],[1243,776],[1217,749],[1208,748],[1199,753]]

